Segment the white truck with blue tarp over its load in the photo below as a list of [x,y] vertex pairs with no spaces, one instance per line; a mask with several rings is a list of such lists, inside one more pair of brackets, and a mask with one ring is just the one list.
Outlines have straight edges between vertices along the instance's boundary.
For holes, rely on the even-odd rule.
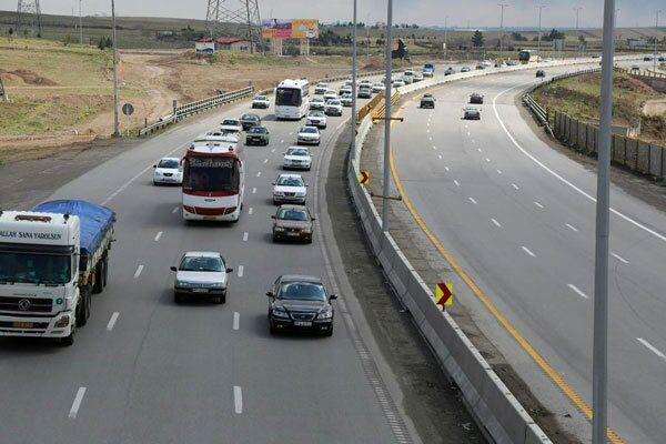
[[0,212],[0,335],[71,345],[109,275],[115,213],[79,200]]

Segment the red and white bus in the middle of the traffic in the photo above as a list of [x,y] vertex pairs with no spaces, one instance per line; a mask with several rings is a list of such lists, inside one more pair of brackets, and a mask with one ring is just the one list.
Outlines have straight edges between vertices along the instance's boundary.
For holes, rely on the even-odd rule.
[[183,218],[238,222],[245,172],[235,141],[196,141],[183,158]]

